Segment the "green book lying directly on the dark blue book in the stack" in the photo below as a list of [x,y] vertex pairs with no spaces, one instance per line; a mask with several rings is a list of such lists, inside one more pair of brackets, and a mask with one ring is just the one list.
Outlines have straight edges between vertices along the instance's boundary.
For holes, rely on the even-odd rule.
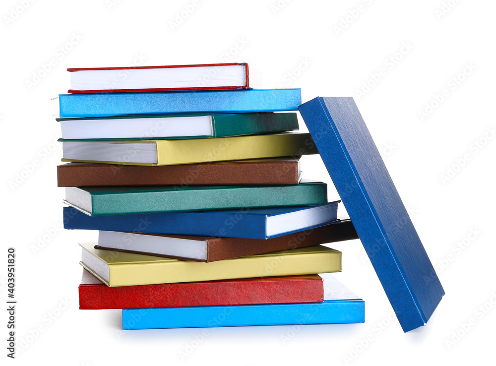
[[327,204],[327,184],[65,187],[65,202],[91,215]]

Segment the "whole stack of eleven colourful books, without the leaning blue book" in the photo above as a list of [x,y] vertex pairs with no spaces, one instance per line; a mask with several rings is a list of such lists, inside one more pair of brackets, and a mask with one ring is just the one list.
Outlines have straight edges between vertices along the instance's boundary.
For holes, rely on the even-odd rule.
[[99,230],[80,308],[123,329],[364,321],[321,245],[357,232],[300,178],[300,89],[251,89],[246,63],[68,71],[64,228]]

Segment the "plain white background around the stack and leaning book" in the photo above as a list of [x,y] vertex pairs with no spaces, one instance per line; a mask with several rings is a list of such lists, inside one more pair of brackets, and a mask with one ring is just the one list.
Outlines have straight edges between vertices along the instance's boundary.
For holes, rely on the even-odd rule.
[[[1,302],[13,246],[21,347],[7,361],[481,363],[493,353],[496,319],[495,7],[483,0],[2,1]],[[358,240],[333,246],[343,251],[336,277],[366,302],[363,324],[217,328],[201,339],[202,329],[122,332],[119,310],[78,309],[77,243],[97,234],[61,230],[62,149],[50,98],[69,88],[65,69],[222,61],[248,62],[265,88],[300,87],[304,102],[355,97],[446,292],[427,326],[402,332]],[[305,157],[303,170],[336,197],[319,157]],[[487,312],[477,310],[485,305]]]

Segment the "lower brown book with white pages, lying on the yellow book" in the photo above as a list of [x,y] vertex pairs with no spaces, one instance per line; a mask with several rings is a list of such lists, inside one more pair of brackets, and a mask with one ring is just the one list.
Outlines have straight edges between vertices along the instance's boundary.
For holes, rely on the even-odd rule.
[[215,238],[185,235],[100,231],[97,249],[213,262],[358,239],[350,220],[339,221],[271,239]]

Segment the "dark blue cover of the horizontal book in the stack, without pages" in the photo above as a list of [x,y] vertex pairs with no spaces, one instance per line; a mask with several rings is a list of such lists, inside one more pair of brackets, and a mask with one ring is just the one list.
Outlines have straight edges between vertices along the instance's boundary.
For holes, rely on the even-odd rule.
[[304,208],[306,207],[89,216],[73,207],[64,207],[63,225],[65,229],[269,239],[330,224],[324,223],[267,237],[267,215],[299,211]]

